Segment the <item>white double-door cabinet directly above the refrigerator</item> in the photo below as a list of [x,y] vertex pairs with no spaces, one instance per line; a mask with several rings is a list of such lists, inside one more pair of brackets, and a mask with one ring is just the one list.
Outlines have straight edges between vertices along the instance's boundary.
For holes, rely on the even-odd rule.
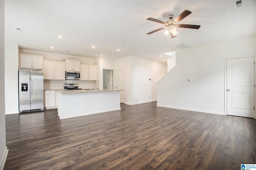
[[20,54],[20,68],[43,69],[44,56]]

